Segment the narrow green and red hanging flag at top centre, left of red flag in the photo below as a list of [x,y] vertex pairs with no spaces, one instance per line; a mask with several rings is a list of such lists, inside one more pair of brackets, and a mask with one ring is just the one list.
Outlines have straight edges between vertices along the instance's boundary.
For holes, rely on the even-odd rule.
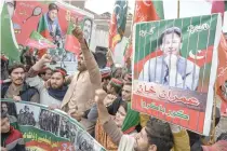
[[109,49],[115,50],[115,46],[118,42],[121,41],[125,25],[126,25],[126,15],[128,15],[128,1],[126,0],[116,0],[114,13],[110,20],[109,28]]

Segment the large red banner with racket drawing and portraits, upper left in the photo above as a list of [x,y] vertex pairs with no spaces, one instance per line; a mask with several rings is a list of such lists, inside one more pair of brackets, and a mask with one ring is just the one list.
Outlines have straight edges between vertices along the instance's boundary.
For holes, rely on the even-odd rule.
[[[57,5],[58,11],[51,20],[50,15],[54,16],[54,14],[50,13],[49,8],[53,3]],[[13,22],[17,43],[26,45],[26,41],[35,30],[57,46],[57,49],[48,51],[55,61],[76,61],[75,53],[78,52],[75,51],[78,49],[74,47],[80,45],[75,44],[67,33],[70,23],[76,23],[78,19],[88,44],[91,42],[94,15],[76,6],[61,1],[8,1],[6,6]],[[65,45],[65,43],[74,46]]]

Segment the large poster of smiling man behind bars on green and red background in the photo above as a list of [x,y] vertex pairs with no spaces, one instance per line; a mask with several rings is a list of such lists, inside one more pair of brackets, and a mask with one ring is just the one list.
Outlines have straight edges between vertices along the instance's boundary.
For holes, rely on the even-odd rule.
[[214,14],[136,24],[132,108],[209,135],[221,22]]

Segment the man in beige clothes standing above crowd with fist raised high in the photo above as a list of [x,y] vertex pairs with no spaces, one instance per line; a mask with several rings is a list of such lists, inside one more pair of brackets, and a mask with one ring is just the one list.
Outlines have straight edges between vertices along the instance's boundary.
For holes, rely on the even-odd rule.
[[97,63],[89,50],[79,26],[76,26],[74,36],[80,42],[82,52],[78,56],[78,72],[71,79],[62,102],[62,109],[80,121],[81,125],[91,134],[95,123],[91,123],[86,114],[94,104],[95,90],[102,87],[102,77]]

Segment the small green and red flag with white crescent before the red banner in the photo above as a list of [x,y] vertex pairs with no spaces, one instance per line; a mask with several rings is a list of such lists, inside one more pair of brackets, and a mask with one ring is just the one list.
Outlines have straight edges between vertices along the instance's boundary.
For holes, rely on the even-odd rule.
[[35,47],[38,50],[43,49],[56,49],[56,45],[54,45],[52,42],[50,42],[48,39],[43,38],[39,32],[32,31],[30,33],[29,39],[26,41],[26,45],[30,47]]

